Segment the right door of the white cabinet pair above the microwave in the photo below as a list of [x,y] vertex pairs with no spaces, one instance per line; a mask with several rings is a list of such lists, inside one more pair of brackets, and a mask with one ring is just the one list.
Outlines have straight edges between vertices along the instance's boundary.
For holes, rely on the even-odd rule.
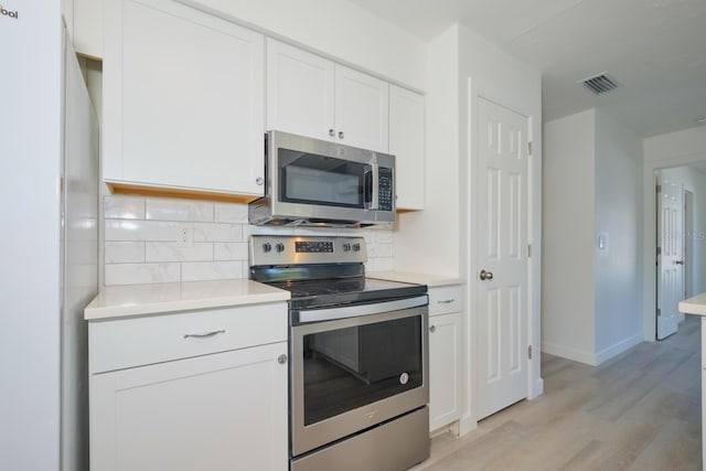
[[389,128],[387,82],[335,65],[336,140],[347,146],[387,152]]

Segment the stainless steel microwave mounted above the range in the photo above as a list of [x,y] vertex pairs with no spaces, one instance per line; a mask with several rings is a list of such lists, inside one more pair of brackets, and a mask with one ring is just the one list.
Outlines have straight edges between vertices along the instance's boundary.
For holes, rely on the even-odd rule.
[[265,196],[250,224],[367,226],[395,222],[395,157],[268,131]]

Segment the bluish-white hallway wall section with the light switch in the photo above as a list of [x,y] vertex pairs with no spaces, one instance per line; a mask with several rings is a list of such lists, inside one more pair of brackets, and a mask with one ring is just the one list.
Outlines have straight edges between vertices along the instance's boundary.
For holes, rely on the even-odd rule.
[[[642,139],[596,111],[596,363],[642,341]],[[598,234],[608,236],[597,248]]]

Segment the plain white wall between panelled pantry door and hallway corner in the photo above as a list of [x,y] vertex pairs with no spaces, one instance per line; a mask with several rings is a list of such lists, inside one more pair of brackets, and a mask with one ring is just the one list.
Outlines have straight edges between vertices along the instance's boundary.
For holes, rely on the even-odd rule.
[[542,350],[584,363],[595,345],[596,113],[544,125]]

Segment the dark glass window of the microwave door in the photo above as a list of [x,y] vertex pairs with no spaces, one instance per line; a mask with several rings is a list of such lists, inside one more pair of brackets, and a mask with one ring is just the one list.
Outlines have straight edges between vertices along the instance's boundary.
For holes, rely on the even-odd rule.
[[278,161],[281,201],[364,207],[363,163],[281,148]]

